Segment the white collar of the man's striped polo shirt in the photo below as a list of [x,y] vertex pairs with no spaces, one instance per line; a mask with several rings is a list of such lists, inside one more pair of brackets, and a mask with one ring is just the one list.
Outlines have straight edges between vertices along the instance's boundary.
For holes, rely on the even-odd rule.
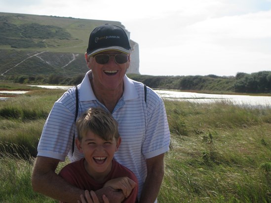
[[[80,101],[98,100],[96,96],[94,95],[94,92],[92,90],[92,87],[89,81],[90,74],[92,74],[91,70],[89,70],[85,74],[85,77],[83,78],[80,84],[80,94],[79,94]],[[138,98],[138,94],[135,89],[135,85],[133,81],[130,78],[128,78],[126,75],[124,75],[123,77],[123,84],[124,84],[124,92],[123,92],[122,98],[124,101]]]

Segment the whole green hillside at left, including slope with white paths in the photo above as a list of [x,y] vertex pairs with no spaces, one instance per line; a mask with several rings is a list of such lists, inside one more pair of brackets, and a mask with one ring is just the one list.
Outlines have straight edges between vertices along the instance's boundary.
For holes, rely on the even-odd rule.
[[0,80],[18,75],[84,73],[89,34],[105,23],[124,28],[116,21],[0,12]]

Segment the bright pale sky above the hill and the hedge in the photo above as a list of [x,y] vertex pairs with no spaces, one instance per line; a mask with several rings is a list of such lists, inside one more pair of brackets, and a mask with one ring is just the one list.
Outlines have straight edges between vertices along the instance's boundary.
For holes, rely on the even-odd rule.
[[141,74],[271,71],[271,0],[0,0],[0,12],[119,21]]

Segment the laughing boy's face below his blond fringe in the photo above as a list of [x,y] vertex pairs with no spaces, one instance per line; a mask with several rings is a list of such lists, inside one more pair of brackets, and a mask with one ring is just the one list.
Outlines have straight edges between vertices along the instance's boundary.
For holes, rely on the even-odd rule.
[[81,142],[76,140],[79,152],[84,154],[86,160],[85,169],[94,179],[106,176],[110,172],[112,159],[120,141],[120,138],[116,140],[115,137],[106,141],[91,131],[87,132]]

